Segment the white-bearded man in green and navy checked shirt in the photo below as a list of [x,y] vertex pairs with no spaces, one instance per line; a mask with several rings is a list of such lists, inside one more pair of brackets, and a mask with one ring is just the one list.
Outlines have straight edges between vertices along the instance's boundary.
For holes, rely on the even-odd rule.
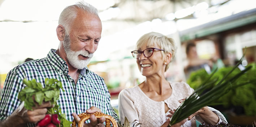
[[[67,119],[78,122],[78,113],[96,111],[109,114],[118,121],[110,105],[110,94],[103,78],[91,72],[87,64],[97,50],[101,38],[101,20],[97,9],[87,3],[78,3],[65,8],[56,29],[60,44],[57,50],[49,51],[46,58],[32,60],[12,69],[5,80],[0,101],[0,127],[35,126],[45,117],[51,103],[36,104],[34,110],[26,110],[18,99],[18,92],[25,88],[22,80],[36,79],[44,83],[45,78],[62,82],[57,104]],[[101,126],[105,118],[90,117],[85,126]]]

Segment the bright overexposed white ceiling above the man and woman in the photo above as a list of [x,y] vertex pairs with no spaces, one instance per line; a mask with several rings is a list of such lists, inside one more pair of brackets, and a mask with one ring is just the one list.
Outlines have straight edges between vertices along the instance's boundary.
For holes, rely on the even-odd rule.
[[[61,11],[79,0],[0,0],[0,74],[8,72],[27,57],[43,58],[49,49],[56,49],[55,29]],[[106,60],[110,52],[133,47],[147,32],[165,35],[178,30],[256,8],[255,0],[84,0],[100,12],[102,38],[95,60]],[[221,3],[230,3],[221,6]],[[194,11],[181,20],[166,19],[166,14],[179,10],[189,12],[191,6],[206,2],[211,15],[194,18]],[[232,3],[231,3],[232,2]],[[243,5],[243,6],[239,6]],[[217,8],[217,9],[216,9]],[[240,10],[239,10],[240,9]],[[215,15],[214,15],[215,14]],[[110,17],[110,18],[109,18]],[[124,56],[119,53],[120,56]],[[130,54],[129,54],[130,55]]]

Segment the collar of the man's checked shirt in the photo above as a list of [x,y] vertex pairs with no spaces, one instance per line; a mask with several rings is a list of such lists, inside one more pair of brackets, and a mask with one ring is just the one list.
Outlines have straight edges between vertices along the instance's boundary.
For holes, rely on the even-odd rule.
[[[62,73],[64,70],[69,70],[66,61],[57,55],[56,50],[51,49],[47,55],[47,59],[59,73]],[[81,69],[80,73],[81,75],[86,76],[89,73],[88,67],[86,66],[84,69]]]

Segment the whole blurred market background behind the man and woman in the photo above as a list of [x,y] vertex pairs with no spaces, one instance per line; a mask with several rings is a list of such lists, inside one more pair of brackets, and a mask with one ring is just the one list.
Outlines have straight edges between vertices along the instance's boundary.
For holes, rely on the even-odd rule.
[[[144,81],[131,51],[148,32],[172,37],[178,45],[176,58],[165,73],[168,81],[185,81],[195,89],[216,67],[218,76],[223,77],[242,57],[245,47],[246,56],[237,71],[252,65],[245,77],[255,78],[256,0],[84,1],[99,10],[103,24],[102,38],[88,67],[104,78],[117,112],[119,92]],[[58,17],[76,2],[0,0],[0,91],[13,67],[57,49]],[[189,65],[188,43],[195,44],[195,56],[208,64]],[[256,119],[255,91],[255,84],[229,91],[217,101],[222,104],[213,107],[224,113],[229,123],[252,126]]]

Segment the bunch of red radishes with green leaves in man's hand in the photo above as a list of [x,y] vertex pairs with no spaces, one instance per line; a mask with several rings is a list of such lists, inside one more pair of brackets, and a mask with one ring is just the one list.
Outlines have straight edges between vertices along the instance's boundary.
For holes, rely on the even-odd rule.
[[72,122],[66,120],[66,114],[61,113],[61,109],[56,102],[60,96],[60,89],[64,91],[61,81],[46,78],[44,88],[42,84],[37,83],[35,79],[30,81],[25,78],[23,79],[23,83],[27,86],[19,92],[18,98],[25,102],[24,107],[26,109],[32,110],[32,107],[35,106],[35,102],[41,105],[43,101],[50,101],[51,104],[55,105],[55,107],[47,109],[47,115],[38,122],[38,126],[46,126],[54,123],[54,126],[70,127]]

